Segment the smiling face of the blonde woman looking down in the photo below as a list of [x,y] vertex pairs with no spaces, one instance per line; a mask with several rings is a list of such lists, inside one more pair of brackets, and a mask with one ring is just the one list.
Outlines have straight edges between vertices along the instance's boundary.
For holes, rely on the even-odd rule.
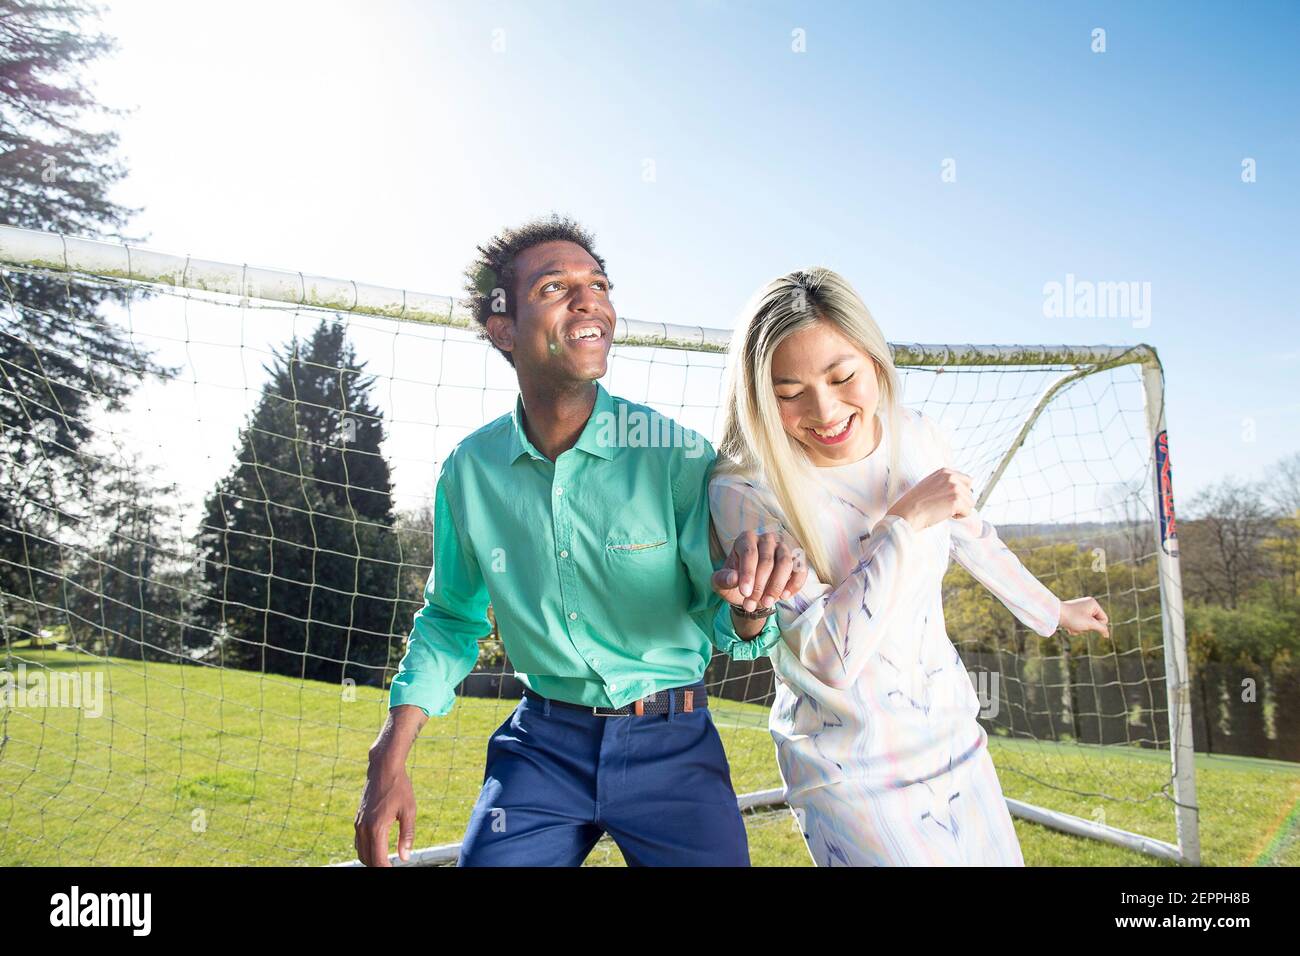
[[772,389],[781,427],[818,467],[849,464],[875,450],[876,364],[832,323],[815,323],[777,346]]

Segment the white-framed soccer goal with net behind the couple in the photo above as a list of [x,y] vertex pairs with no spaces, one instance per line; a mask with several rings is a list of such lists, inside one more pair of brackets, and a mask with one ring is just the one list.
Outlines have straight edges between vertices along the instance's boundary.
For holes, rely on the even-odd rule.
[[[0,329],[0,864],[355,861],[437,468],[514,407],[512,371],[454,298],[16,228]],[[716,440],[728,341],[620,319],[604,384]],[[1199,862],[1156,352],[893,354],[1004,541],[1112,622],[1043,639],[952,566],[948,631],[1013,813]],[[806,862],[770,667],[719,656],[706,679],[755,860]],[[412,752],[416,862],[455,860],[519,692],[484,635]]]

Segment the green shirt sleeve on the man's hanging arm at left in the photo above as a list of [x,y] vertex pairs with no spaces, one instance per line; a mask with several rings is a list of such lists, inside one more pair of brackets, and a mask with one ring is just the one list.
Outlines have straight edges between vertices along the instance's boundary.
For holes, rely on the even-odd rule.
[[442,717],[455,688],[478,661],[478,640],[491,633],[488,587],[473,554],[463,546],[454,514],[454,470],[448,455],[433,505],[433,566],[416,611],[407,650],[389,688],[389,708],[413,704]]

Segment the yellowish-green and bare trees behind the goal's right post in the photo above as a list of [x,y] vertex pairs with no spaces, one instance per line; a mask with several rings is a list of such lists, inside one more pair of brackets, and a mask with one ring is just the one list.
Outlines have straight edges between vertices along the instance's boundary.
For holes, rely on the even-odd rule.
[[[1195,747],[1300,760],[1300,454],[1260,483],[1225,479],[1178,522]],[[1144,489],[1135,489],[1139,501]],[[1110,637],[1043,639],[965,570],[945,581],[967,667],[998,674],[996,728],[1039,739],[1167,747],[1161,593],[1149,520],[1011,544],[1061,597],[1089,594]],[[1118,559],[1108,555],[1122,555]]]

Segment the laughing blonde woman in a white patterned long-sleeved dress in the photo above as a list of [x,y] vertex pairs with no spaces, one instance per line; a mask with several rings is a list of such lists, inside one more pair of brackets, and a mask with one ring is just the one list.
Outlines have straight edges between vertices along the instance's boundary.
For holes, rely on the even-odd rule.
[[975,511],[939,424],[898,398],[885,338],[844,278],[770,282],[732,341],[714,525],[723,541],[784,529],[807,559],[803,588],[775,604],[770,730],[812,860],[1020,866],[944,630],[949,554],[1044,637],[1108,633],[1106,615],[1020,564]]

